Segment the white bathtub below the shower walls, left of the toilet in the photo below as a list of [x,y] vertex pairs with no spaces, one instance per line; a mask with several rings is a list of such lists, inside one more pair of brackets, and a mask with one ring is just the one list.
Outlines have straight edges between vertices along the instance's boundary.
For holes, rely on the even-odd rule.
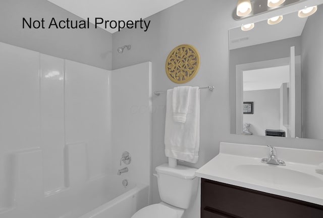
[[[130,218],[149,203],[149,186],[109,175],[85,184],[43,193],[0,210],[1,218]],[[42,187],[39,187],[41,190]]]

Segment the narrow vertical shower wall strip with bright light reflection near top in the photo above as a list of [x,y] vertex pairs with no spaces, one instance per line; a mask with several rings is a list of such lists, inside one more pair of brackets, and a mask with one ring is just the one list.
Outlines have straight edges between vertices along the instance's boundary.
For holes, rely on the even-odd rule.
[[40,54],[44,192],[64,187],[64,60]]

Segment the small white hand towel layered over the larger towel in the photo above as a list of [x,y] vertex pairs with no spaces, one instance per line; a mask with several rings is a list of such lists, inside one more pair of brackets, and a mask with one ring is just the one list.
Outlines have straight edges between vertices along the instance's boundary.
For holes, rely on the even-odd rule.
[[190,101],[191,86],[180,86],[173,89],[173,119],[185,123]]

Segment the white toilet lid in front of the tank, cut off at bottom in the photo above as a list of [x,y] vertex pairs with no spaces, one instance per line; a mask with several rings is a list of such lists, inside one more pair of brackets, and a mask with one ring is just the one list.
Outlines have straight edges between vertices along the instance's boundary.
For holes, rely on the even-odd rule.
[[152,204],[138,210],[131,218],[177,218],[176,210],[162,205]]

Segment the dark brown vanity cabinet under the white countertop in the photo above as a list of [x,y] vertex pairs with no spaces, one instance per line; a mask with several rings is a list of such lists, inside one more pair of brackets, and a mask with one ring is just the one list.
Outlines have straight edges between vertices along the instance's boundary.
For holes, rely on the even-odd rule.
[[201,218],[323,218],[323,206],[202,179]]

